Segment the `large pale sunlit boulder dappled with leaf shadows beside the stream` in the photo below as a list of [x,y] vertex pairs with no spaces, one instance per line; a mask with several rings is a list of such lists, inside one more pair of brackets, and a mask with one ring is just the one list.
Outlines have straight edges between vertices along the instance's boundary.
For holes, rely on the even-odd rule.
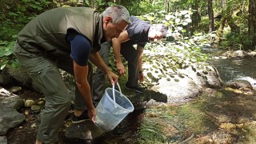
[[[148,59],[143,62],[144,84],[148,90],[166,95],[167,103],[187,102],[196,98],[202,94],[202,87],[222,87],[222,80],[214,66],[175,62],[162,52],[151,54],[146,51],[145,55],[144,58]],[[151,99],[156,100],[157,97]]]

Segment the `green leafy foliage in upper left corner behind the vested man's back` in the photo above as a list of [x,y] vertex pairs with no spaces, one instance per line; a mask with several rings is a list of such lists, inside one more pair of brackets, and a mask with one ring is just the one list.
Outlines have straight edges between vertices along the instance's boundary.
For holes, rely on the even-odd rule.
[[13,54],[17,34],[36,14],[48,10],[50,3],[50,0],[15,1],[15,6],[8,13],[0,11],[0,70],[7,65],[20,66]]

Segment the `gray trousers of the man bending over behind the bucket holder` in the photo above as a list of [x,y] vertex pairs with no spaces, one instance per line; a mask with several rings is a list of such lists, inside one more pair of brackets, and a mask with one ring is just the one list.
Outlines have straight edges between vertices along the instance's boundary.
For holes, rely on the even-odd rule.
[[[109,64],[110,47],[111,42],[102,43],[102,48],[99,50],[99,54],[102,56],[106,65]],[[134,48],[133,44],[129,41],[121,44],[120,53],[123,58],[128,62],[128,82],[129,86],[138,86],[138,51]],[[102,70],[97,69],[94,74],[93,93],[94,96],[102,98],[104,94],[104,88],[106,84],[106,75]]]

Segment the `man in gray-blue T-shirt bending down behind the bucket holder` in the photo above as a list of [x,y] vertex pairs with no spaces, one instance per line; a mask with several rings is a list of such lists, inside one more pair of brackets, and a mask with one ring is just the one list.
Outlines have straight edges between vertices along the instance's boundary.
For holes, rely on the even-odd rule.
[[[162,24],[153,24],[142,21],[141,19],[131,16],[132,24],[123,31],[118,38],[113,38],[111,42],[102,43],[102,50],[99,53],[102,59],[108,65],[110,47],[113,46],[114,57],[118,74],[126,74],[126,69],[122,64],[120,53],[128,61],[128,82],[126,89],[135,90],[143,93],[142,87],[138,86],[138,81],[143,81],[142,70],[142,52],[146,42],[155,42],[166,36],[166,26]],[[137,49],[134,45],[137,45]],[[96,97],[102,97],[104,94],[105,74],[102,70],[97,70],[94,75],[94,94]]]

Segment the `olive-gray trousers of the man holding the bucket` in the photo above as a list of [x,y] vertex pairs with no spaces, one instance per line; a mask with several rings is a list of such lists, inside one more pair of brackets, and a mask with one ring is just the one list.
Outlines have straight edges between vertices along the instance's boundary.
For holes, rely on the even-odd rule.
[[[58,130],[63,125],[71,104],[70,94],[58,68],[74,75],[73,61],[71,58],[55,59],[48,58],[43,54],[31,54],[23,50],[18,43],[14,46],[14,54],[46,97],[37,139],[43,143],[56,142],[58,141]],[[91,84],[92,68],[91,65],[89,66],[88,81]],[[77,87],[75,88],[74,109],[86,109]]]

